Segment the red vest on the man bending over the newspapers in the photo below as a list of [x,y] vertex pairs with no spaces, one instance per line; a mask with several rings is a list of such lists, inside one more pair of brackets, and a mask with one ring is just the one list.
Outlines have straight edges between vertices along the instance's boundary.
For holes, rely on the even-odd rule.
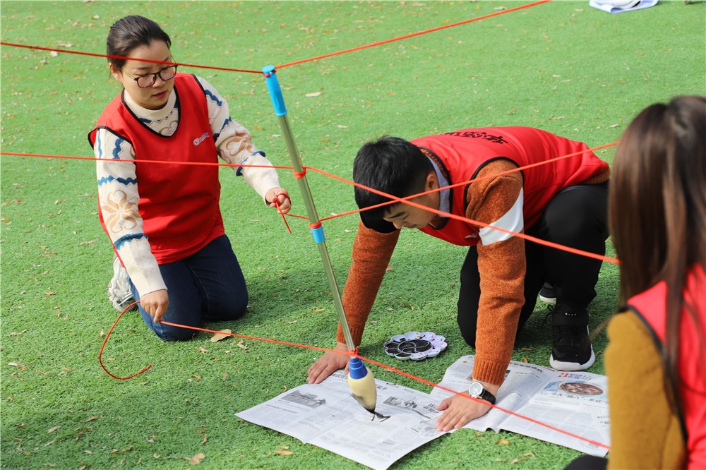
[[[494,159],[509,159],[519,167],[544,162],[582,150],[587,145],[530,127],[486,127],[462,129],[430,135],[411,141],[430,150],[441,160],[450,175],[449,184],[474,179],[478,171]],[[537,222],[551,198],[567,186],[586,181],[602,173],[608,164],[593,152],[560,159],[549,164],[522,170],[525,228]],[[466,216],[466,194],[471,183],[451,190],[450,212]],[[424,227],[421,231],[455,245],[476,245],[478,230],[467,222],[445,219],[441,229]]]

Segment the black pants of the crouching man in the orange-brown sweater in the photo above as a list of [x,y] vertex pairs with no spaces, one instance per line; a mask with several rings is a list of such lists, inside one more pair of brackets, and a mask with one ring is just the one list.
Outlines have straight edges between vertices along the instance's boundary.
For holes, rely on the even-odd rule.
[[[542,217],[525,233],[546,241],[604,255],[608,239],[608,183],[564,188],[546,205]],[[551,282],[557,303],[585,308],[596,296],[595,286],[602,261],[525,241],[525,305],[517,331],[532,315],[537,294],[544,282]],[[478,251],[468,250],[461,268],[457,322],[463,339],[472,347],[480,299]]]

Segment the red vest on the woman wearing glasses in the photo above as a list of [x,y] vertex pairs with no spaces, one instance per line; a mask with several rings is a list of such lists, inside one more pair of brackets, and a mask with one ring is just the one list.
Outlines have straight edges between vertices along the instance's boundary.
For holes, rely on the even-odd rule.
[[[122,93],[105,108],[97,126],[88,134],[91,146],[99,128],[107,128],[132,144],[143,231],[160,264],[186,258],[225,234],[218,205],[220,183],[216,165],[141,163],[218,162],[208,123],[208,104],[196,77],[177,73],[174,93],[177,93],[179,126],[169,137],[141,123],[124,103]],[[98,213],[107,233],[100,201]]]

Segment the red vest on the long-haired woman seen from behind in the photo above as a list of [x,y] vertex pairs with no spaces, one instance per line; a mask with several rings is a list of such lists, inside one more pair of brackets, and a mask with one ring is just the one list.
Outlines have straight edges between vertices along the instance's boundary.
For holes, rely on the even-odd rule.
[[[687,468],[703,468],[706,463],[706,274],[696,266],[686,279],[685,304],[692,306],[700,321],[697,327],[686,308],[679,330],[679,377],[683,404],[682,426],[686,432]],[[661,351],[666,332],[666,284],[659,282],[628,301],[650,330]],[[661,384],[655,384],[661,385]]]

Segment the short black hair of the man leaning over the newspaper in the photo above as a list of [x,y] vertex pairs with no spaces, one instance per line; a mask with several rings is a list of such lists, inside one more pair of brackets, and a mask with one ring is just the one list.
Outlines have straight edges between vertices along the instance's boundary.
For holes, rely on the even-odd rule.
[[[384,135],[360,147],[353,162],[353,181],[397,198],[405,198],[424,191],[426,176],[431,171],[431,161],[417,145]],[[389,200],[383,195],[355,187],[355,202],[360,209]],[[379,221],[393,207],[394,204],[367,210],[361,212],[361,217],[364,222]]]

